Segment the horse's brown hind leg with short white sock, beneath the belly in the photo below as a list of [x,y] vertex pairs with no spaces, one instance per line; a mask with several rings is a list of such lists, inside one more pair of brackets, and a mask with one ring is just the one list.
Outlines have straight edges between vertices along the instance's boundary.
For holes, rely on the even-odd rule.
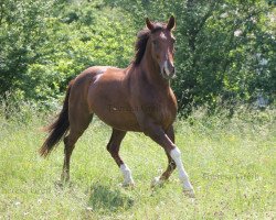
[[125,131],[113,129],[112,138],[107,144],[107,151],[110,153],[112,157],[114,158],[114,161],[119,166],[123,173],[124,176],[123,187],[128,187],[128,186],[134,186],[135,183],[131,176],[131,170],[128,168],[127,164],[125,164],[119,156],[120,143],[125,138],[125,135],[126,135]]

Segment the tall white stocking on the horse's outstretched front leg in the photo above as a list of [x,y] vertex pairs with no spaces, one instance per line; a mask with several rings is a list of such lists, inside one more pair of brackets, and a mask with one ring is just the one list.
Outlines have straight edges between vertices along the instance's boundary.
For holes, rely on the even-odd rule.
[[182,161],[181,161],[181,152],[179,151],[178,147],[176,147],[170,152],[170,155],[177,164],[177,168],[179,172],[179,179],[183,184],[184,191],[188,191],[188,190],[193,191],[193,187],[189,180],[189,176],[188,176],[188,174],[184,169],[184,166],[182,164]]

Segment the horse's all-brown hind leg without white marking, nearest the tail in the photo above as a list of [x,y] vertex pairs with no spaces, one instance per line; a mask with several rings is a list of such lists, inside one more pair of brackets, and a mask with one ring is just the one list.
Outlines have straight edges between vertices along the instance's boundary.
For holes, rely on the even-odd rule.
[[70,162],[71,155],[75,147],[75,143],[82,136],[84,131],[89,125],[92,121],[93,114],[87,112],[81,112],[78,114],[70,116],[70,133],[67,136],[64,138],[64,163],[63,163],[63,170],[61,175],[62,182],[70,180]]

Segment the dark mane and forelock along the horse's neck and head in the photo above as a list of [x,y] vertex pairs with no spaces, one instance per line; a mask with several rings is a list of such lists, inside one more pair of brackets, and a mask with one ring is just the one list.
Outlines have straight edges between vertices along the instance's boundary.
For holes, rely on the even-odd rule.
[[134,65],[137,66],[140,64],[142,56],[146,52],[147,43],[150,36],[150,33],[155,33],[159,30],[166,29],[164,23],[156,22],[153,23],[153,30],[149,30],[148,28],[145,28],[137,34],[137,41],[135,43],[135,58],[134,58]]

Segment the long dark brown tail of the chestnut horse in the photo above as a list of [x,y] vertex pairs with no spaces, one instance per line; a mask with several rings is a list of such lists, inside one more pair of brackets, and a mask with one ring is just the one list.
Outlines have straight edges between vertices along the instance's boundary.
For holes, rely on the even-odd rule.
[[56,117],[56,120],[45,127],[43,130],[49,132],[49,136],[43,143],[43,145],[40,148],[40,155],[43,157],[46,157],[51,151],[54,148],[55,145],[57,145],[61,141],[61,139],[67,133],[70,128],[70,121],[68,121],[68,98],[70,98],[70,91],[71,87],[73,85],[74,80],[72,80],[67,87],[65,100],[63,102],[63,108],[60,112],[60,114]]

